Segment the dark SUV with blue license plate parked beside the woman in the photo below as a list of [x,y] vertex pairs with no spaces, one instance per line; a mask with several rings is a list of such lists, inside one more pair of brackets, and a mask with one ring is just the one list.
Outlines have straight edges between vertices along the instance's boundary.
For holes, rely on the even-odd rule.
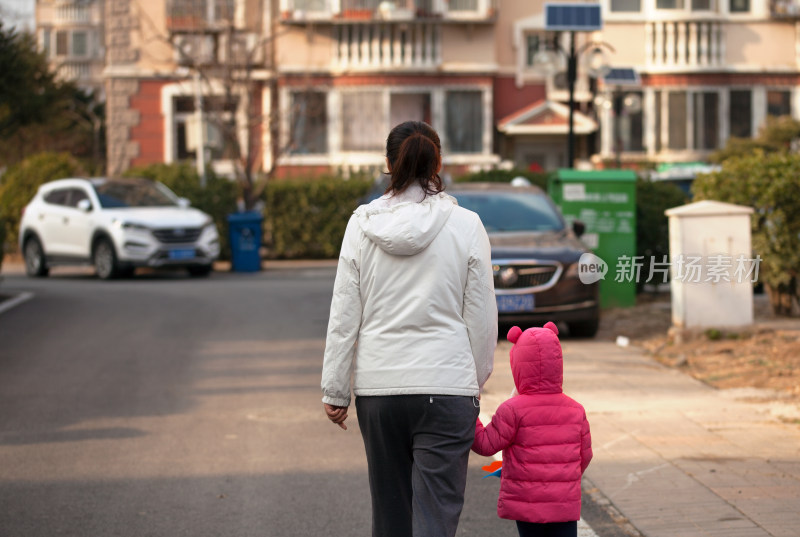
[[497,309],[502,324],[527,328],[566,323],[569,333],[593,337],[600,320],[598,285],[578,278],[590,252],[540,188],[506,183],[455,183],[446,192],[478,213],[492,244]]

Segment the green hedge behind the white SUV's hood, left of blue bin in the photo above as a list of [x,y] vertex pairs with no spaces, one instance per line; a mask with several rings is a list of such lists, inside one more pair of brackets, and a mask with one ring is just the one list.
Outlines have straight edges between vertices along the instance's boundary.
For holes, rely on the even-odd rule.
[[235,181],[217,177],[209,171],[205,188],[194,166],[181,164],[151,164],[132,168],[128,177],[146,177],[166,185],[178,196],[188,199],[192,206],[208,213],[214,219],[220,234],[220,257],[230,259],[231,248],[228,236],[228,215],[236,212],[239,186]]

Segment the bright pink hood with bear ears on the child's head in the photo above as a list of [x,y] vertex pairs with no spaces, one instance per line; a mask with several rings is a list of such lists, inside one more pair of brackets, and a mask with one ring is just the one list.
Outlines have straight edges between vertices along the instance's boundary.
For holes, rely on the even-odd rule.
[[508,340],[514,343],[511,372],[521,395],[562,392],[564,361],[555,324],[524,332],[515,326],[508,331]]

